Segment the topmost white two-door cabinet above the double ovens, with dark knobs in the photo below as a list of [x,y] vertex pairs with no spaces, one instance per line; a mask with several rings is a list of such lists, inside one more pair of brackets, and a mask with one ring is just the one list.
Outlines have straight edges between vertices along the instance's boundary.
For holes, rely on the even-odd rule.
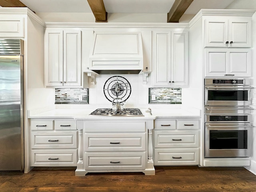
[[212,17],[205,20],[205,47],[249,48],[251,46],[250,17]]

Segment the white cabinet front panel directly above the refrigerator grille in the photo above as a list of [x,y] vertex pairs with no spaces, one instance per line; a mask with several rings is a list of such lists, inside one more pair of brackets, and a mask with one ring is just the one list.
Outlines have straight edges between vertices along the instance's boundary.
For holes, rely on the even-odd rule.
[[0,16],[0,26],[1,37],[24,37],[24,18]]

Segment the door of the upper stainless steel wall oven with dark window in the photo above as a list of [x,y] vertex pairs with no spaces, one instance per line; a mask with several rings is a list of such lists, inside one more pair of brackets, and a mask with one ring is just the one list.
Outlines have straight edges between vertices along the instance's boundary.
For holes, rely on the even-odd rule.
[[217,88],[206,86],[205,88],[205,105],[250,105],[250,88]]

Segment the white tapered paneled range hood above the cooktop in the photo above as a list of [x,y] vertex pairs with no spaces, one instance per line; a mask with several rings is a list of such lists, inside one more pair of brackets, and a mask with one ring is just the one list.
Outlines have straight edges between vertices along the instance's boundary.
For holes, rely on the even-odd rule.
[[143,70],[140,32],[94,32],[89,70],[97,74],[139,74]]

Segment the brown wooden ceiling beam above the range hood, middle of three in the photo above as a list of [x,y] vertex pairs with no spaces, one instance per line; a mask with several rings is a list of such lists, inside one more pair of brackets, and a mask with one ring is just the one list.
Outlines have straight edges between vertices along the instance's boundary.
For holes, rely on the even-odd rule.
[[108,13],[105,10],[103,0],[87,0],[94,14],[95,22],[108,22]]

